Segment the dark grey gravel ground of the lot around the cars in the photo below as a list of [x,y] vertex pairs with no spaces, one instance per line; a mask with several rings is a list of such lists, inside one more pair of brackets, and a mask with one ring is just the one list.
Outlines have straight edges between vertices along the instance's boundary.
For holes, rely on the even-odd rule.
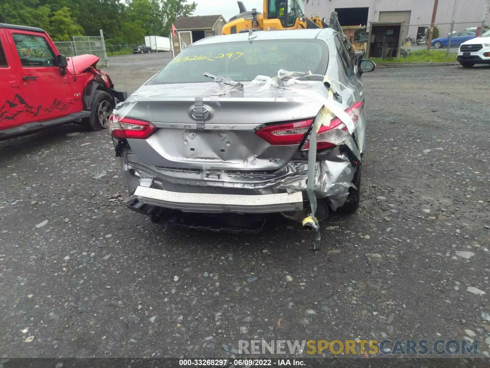
[[[168,61],[114,57],[107,71],[133,92]],[[472,333],[488,354],[489,72],[363,76],[363,199],[322,224],[319,252],[277,220],[255,236],[152,224],[111,199],[127,192],[107,131],[0,142],[0,356],[231,357],[239,339]]]

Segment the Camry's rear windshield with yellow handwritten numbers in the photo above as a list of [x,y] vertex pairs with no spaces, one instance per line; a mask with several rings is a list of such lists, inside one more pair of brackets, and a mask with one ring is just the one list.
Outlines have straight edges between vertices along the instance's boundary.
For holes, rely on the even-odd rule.
[[210,73],[235,81],[258,75],[275,77],[279,69],[324,75],[325,42],[312,39],[260,40],[194,45],[184,49],[147,84],[208,82]]

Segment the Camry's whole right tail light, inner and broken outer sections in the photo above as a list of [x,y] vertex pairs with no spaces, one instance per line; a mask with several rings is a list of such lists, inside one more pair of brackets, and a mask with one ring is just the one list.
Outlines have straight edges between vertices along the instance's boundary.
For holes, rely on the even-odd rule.
[[[349,114],[352,121],[357,122],[357,110],[363,105],[362,102],[349,107],[345,112]],[[286,146],[300,144],[304,135],[309,131],[314,119],[300,120],[291,123],[272,125],[260,129],[256,132],[262,139],[272,146]],[[350,134],[345,124],[339,119],[334,118],[329,126],[322,125],[317,133],[317,150],[325,150],[341,145],[347,141]],[[310,140],[307,139],[301,151],[310,148]]]

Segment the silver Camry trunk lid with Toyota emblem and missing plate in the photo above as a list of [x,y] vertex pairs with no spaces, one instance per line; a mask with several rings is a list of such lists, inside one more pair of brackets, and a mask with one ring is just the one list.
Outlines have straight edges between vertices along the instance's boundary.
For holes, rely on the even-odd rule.
[[[318,101],[306,91],[269,89],[244,83],[243,90],[218,87],[210,81],[193,84],[146,85],[115,110],[151,122],[159,128],[149,138],[128,139],[136,157],[144,164],[216,170],[276,170],[285,165],[298,145],[272,146],[257,134],[268,123],[314,117]],[[309,89],[312,85],[309,83]],[[315,83],[320,93],[327,90]],[[221,94],[221,95],[220,95]],[[202,100],[204,122],[196,112],[196,96]],[[199,101],[197,104],[199,105]]]

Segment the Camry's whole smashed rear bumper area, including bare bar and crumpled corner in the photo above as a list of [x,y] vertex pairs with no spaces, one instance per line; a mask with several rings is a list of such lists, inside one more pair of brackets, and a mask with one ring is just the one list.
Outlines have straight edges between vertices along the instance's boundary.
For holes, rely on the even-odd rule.
[[[351,160],[357,158],[348,152],[337,148],[317,161],[314,191],[332,210],[343,206],[354,186],[357,168]],[[291,161],[275,172],[208,172],[143,165],[124,149],[121,164],[129,195],[159,208],[208,213],[291,212],[302,210],[308,200],[308,163],[304,161]]]

